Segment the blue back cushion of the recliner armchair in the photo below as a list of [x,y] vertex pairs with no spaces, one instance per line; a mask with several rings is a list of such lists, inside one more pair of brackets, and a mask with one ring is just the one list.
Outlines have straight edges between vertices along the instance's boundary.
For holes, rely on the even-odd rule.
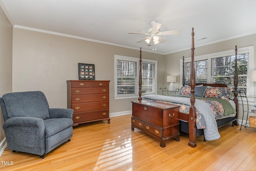
[[50,118],[49,105],[44,93],[41,91],[7,93],[2,98],[4,99],[8,118]]

